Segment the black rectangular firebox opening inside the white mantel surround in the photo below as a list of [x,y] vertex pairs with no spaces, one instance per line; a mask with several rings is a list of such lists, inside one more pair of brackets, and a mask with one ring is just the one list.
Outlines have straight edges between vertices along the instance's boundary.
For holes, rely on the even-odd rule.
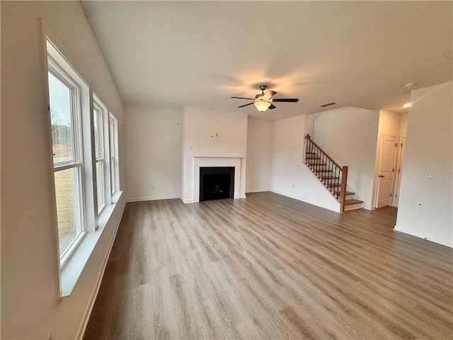
[[200,202],[234,198],[234,166],[200,167]]

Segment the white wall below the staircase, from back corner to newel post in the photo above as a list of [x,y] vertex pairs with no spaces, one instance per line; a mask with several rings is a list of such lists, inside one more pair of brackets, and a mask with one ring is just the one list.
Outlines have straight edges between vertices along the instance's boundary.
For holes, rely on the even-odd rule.
[[271,191],[338,212],[338,201],[302,163],[304,131],[305,115],[274,122]]

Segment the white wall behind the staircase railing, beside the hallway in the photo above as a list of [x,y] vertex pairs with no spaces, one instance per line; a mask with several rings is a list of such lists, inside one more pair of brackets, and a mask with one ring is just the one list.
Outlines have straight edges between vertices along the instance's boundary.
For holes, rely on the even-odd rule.
[[348,190],[372,208],[379,110],[339,108],[320,113],[313,140],[340,164],[349,166]]

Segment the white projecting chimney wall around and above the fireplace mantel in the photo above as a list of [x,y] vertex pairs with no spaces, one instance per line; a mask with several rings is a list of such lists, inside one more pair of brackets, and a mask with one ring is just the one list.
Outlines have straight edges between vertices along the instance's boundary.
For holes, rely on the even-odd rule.
[[241,158],[239,180],[241,195],[245,196],[247,113],[186,106],[183,113],[183,130],[183,201],[193,201],[194,156]]

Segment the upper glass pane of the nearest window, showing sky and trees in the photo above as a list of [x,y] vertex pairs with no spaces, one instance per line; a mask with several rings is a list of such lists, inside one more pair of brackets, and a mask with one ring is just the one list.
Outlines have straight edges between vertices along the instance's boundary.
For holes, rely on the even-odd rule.
[[74,159],[71,131],[71,89],[52,73],[48,72],[48,74],[54,163],[70,161]]

